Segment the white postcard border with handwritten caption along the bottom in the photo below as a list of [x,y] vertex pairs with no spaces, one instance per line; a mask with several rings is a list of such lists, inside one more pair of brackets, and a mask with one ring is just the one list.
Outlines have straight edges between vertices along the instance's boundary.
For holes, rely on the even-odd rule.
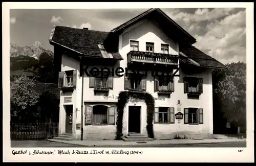
[[[58,162],[254,162],[254,40],[253,3],[2,3],[3,27],[3,161]],[[148,8],[246,8],[247,148],[137,148],[143,155],[15,155],[15,150],[60,150],[67,148],[10,148],[10,9],[148,9]],[[50,34],[50,30],[49,30]],[[75,150],[77,148],[69,148]],[[79,148],[90,150],[95,148]],[[99,148],[136,150],[136,148]],[[99,150],[98,149],[98,150]],[[242,149],[242,153],[238,153]]]

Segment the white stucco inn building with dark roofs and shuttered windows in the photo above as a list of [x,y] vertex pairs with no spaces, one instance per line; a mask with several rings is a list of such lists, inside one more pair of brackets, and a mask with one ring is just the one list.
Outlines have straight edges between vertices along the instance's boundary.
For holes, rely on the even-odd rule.
[[[155,98],[157,139],[173,138],[177,132],[191,138],[210,137],[211,73],[226,66],[191,45],[195,42],[160,9],[147,10],[111,32],[54,26],[50,43],[61,90],[59,135],[70,133],[66,135],[80,139],[82,127],[83,139],[114,139],[117,97],[120,91],[130,90]],[[81,64],[88,73],[93,67],[114,71],[121,67],[127,77],[114,74],[102,79],[84,74],[82,80]],[[164,76],[155,76],[162,71]],[[123,134],[147,135],[146,115],[143,101],[127,102]]]

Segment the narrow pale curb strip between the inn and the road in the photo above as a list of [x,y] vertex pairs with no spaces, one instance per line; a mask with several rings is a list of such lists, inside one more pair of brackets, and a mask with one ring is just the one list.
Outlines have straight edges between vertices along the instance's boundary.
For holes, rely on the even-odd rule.
[[[88,147],[88,148],[93,148],[93,147],[96,147],[96,148],[115,148],[115,147],[127,147],[129,148],[130,146],[135,146],[135,145],[81,145],[81,144],[74,144],[74,143],[67,143],[67,142],[62,142],[62,141],[55,141],[55,140],[49,140],[47,139],[48,141],[51,141],[51,142],[55,142],[55,143],[63,143],[63,144],[69,144],[69,145],[76,145],[76,146],[81,146],[81,147]],[[195,144],[224,144],[224,143],[240,143],[240,142],[245,142],[246,143],[246,140],[235,140],[235,141],[223,141],[223,142],[211,142],[211,143],[206,143],[206,142],[202,142],[202,143],[172,143],[172,144],[144,144],[144,145],[147,145],[147,146],[159,146],[159,145],[195,145]],[[144,147],[144,145],[136,145],[138,148],[149,148],[149,147]]]

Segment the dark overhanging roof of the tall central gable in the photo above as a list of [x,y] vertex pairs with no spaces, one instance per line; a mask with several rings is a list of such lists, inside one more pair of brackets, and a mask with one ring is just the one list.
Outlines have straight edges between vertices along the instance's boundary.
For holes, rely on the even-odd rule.
[[182,27],[180,27],[173,19],[167,16],[161,9],[153,8],[149,9],[140,15],[122,23],[122,25],[114,28],[112,33],[122,33],[126,28],[134,25],[135,23],[143,20],[150,19],[156,22],[167,36],[175,39],[179,42],[184,42],[186,44],[194,44],[196,39],[186,32]]

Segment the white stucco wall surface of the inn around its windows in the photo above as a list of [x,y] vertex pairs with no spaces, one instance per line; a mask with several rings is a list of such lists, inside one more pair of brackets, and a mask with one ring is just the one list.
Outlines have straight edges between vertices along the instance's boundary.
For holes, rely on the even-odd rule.
[[[153,22],[144,20],[137,25],[132,26],[131,28],[125,30],[123,34],[119,36],[119,53],[123,57],[124,60],[119,61],[115,66],[109,66],[117,68],[119,66],[125,68],[127,66],[127,53],[130,52],[130,39],[139,41],[139,51],[145,51],[145,43],[146,42],[154,42],[155,43],[155,52],[160,53],[160,44],[161,43],[168,43],[169,44],[169,54],[176,54],[178,55],[179,52],[179,44],[175,43],[171,39],[169,39]],[[90,66],[90,68],[95,66]],[[102,67],[102,66],[96,66]],[[108,67],[108,66],[107,66]],[[77,85],[76,89],[73,91],[72,94],[72,104],[74,104],[75,108],[78,108],[76,112],[76,118],[74,118],[74,124],[81,122],[81,84],[82,79],[79,77],[79,62],[73,60],[72,58],[68,58],[66,55],[62,56],[62,65],[61,70],[70,70],[70,69],[77,69]],[[180,70],[177,75],[180,77],[175,77],[175,92],[170,94],[170,97],[158,96],[157,92],[154,92],[154,79],[151,76],[151,71],[148,71],[148,78],[146,82],[146,91],[151,93],[154,98],[165,98],[165,101],[155,101],[155,107],[159,106],[167,106],[167,107],[174,107],[175,113],[177,113],[177,102],[180,100],[181,102],[181,112],[183,112],[184,108],[187,107],[198,107],[204,109],[204,124],[201,125],[185,125],[183,120],[181,123],[178,123],[178,120],[175,120],[175,124],[169,125],[161,125],[161,124],[154,124],[154,131],[156,137],[168,137],[170,134],[177,132],[177,131],[184,131],[184,132],[191,132],[191,133],[206,133],[212,134],[212,85],[211,85],[211,72],[207,70],[206,72],[197,75],[196,77],[203,78],[203,93],[200,96],[199,100],[192,100],[187,99],[187,94],[184,94],[184,87],[183,87],[183,77],[187,76]],[[96,93],[94,94],[94,89],[89,88],[89,77],[84,77],[83,82],[83,101],[86,102],[88,105],[93,105],[90,103],[98,103],[98,102],[110,102],[109,105],[113,105],[113,102],[117,102],[117,99],[104,99],[103,94],[105,93]],[[117,96],[120,91],[123,90],[124,87],[124,78],[121,77],[114,77],[114,88],[110,89],[109,96]],[[63,97],[60,98],[60,105],[63,104]],[[127,125],[128,125],[128,106],[134,105],[134,102],[127,103],[126,107],[124,108],[124,117],[123,117],[123,132],[127,133]],[[145,103],[136,103],[137,106],[142,106],[141,111],[141,131],[143,134],[146,134],[146,106]],[[83,107],[84,111],[84,107]],[[63,107],[60,106],[60,122],[61,127],[65,128],[65,120],[63,120],[63,116],[65,111],[63,111]],[[75,112],[74,112],[75,114]],[[83,117],[84,119],[84,117]],[[63,122],[62,122],[63,121]],[[83,120],[84,121],[84,120]],[[64,125],[63,125],[64,123]],[[84,123],[83,123],[84,124]],[[75,126],[75,125],[74,125]],[[85,135],[89,132],[91,134],[102,133],[105,136],[101,137],[113,137],[109,136],[110,133],[113,134],[115,131],[116,126],[85,126],[84,125],[84,133]],[[104,133],[101,131],[107,131],[109,133]],[[61,129],[61,132],[64,131]],[[80,130],[75,130],[76,135],[79,136]],[[93,132],[92,132],[93,131]],[[97,137],[95,135],[95,137]],[[87,134],[87,138],[90,138],[90,135]]]

